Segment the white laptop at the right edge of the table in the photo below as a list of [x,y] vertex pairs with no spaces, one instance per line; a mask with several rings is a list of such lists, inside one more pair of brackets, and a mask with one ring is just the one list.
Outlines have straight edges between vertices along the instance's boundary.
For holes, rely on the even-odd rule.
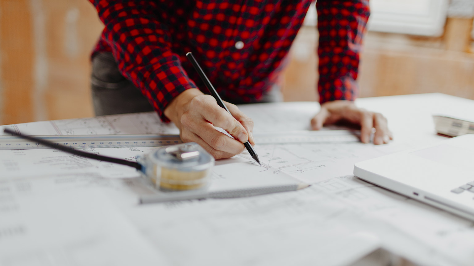
[[358,162],[354,175],[474,221],[474,134]]

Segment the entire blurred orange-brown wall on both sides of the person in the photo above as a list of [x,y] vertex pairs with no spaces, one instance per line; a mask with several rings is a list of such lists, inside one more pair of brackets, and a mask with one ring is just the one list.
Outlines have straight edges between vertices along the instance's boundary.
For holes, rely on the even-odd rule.
[[[369,32],[360,97],[443,92],[474,99],[472,19],[438,38]],[[103,26],[87,0],[0,0],[0,124],[92,116],[91,48]],[[316,100],[317,32],[304,27],[285,72],[287,101]]]

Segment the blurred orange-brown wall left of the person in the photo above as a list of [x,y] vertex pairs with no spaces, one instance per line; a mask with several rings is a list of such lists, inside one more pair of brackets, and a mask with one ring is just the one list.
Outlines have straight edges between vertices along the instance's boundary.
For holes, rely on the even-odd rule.
[[0,0],[0,124],[92,116],[87,0]]

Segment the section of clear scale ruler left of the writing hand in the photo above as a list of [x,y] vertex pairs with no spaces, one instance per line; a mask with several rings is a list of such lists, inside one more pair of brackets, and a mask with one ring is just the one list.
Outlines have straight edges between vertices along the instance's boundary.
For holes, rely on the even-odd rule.
[[[179,135],[117,134],[117,135],[43,135],[32,136],[71,148],[155,147],[181,143]],[[0,150],[48,149],[16,136],[0,136]]]

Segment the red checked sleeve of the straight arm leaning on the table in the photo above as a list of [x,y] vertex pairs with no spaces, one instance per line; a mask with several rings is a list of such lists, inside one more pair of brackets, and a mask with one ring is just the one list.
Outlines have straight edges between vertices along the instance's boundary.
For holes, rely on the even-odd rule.
[[318,0],[319,102],[355,100],[368,0]]

